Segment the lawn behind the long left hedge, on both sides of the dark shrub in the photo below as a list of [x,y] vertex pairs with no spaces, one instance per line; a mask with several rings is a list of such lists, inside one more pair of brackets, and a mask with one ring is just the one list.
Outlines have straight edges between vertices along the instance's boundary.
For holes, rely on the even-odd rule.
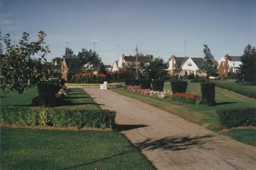
[[[38,93],[36,87],[25,90],[22,94],[9,92],[1,97],[1,106],[31,106],[33,97]],[[63,105],[56,108],[68,109],[100,109],[99,105],[84,92],[83,89],[74,88],[68,92],[68,97],[63,100]]]

